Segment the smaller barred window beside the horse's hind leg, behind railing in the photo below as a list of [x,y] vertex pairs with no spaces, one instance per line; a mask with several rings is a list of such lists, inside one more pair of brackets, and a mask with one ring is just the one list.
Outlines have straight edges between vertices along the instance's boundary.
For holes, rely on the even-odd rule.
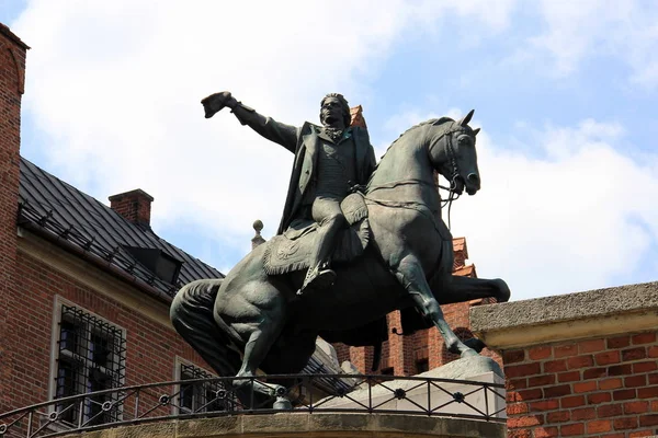
[[[179,380],[212,379],[214,374],[190,364],[180,364]],[[219,381],[181,383],[178,408],[180,414],[234,410],[234,400],[225,396],[225,385]]]

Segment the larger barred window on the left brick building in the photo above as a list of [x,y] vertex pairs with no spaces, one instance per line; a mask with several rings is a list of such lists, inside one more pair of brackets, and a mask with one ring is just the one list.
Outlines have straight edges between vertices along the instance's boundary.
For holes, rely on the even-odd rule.
[[[55,399],[120,388],[125,379],[124,331],[73,306],[61,304],[57,339]],[[59,418],[73,425],[121,419],[121,407],[103,410],[118,394],[99,394],[57,405]],[[107,406],[107,404],[106,404]]]

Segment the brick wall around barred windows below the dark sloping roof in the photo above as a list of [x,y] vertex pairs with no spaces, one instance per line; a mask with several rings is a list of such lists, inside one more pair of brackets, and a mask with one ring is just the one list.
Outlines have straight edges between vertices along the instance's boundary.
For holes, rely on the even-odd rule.
[[[11,400],[0,412],[48,400],[56,295],[126,330],[126,385],[173,380],[177,355],[211,370],[171,326],[22,251],[16,266],[16,289],[8,308],[8,324],[13,328],[4,339],[12,358],[13,376],[5,382]],[[102,273],[99,276],[102,280]],[[140,296],[151,312],[159,311],[161,320],[168,321],[166,304],[149,301],[141,291],[134,293]]]

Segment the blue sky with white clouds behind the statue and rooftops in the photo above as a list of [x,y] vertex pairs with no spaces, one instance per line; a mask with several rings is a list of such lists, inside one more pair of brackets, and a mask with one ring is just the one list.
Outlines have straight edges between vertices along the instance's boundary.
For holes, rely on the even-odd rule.
[[512,299],[658,280],[658,3],[2,0],[29,46],[21,153],[227,273],[275,233],[293,155],[204,96],[319,123],[361,104],[376,155],[475,108],[483,188],[452,207]]

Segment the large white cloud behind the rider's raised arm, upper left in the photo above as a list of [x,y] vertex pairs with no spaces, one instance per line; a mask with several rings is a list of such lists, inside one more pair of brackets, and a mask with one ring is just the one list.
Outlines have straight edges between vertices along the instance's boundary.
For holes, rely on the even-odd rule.
[[33,47],[24,110],[48,169],[101,199],[141,187],[156,229],[192,220],[226,242],[257,218],[276,229],[292,155],[228,111],[204,119],[202,97],[230,90],[282,122],[315,120],[329,91],[366,101],[360,81],[402,33],[447,13],[501,28],[513,2],[499,3],[32,0],[12,30]]

